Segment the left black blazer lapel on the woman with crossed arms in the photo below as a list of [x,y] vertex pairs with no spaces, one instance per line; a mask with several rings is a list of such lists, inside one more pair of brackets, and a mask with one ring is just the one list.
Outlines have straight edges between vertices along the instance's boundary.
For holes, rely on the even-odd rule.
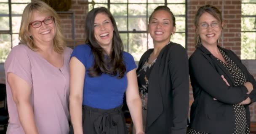
[[[218,46],[219,47],[219,46]],[[211,54],[211,52],[208,50],[208,49],[206,49],[203,45],[200,45],[200,50],[202,51],[202,52],[204,52],[205,54],[207,54],[207,55],[209,55],[209,57],[212,59],[212,61],[214,62],[214,65],[217,65],[224,73],[225,73],[225,75],[227,76],[227,77],[225,77],[226,78],[226,80],[229,82],[229,84],[230,84],[230,82],[232,83],[232,85],[234,85],[234,81],[233,81],[233,78],[232,78],[232,76],[230,75],[230,73],[228,72],[228,70],[216,59],[216,57],[214,57],[213,56],[213,54]],[[218,70],[218,69],[216,69],[216,70]],[[221,75],[221,74],[220,74]]]

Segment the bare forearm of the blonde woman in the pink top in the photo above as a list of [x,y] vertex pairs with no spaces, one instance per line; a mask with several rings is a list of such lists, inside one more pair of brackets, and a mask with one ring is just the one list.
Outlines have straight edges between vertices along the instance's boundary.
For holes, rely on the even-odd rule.
[[38,134],[34,112],[30,102],[16,103],[19,120],[25,134]]

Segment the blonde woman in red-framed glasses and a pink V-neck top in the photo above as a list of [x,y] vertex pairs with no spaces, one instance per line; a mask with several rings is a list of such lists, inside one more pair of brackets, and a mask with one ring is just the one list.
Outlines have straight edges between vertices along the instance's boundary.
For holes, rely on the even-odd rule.
[[7,134],[67,134],[72,49],[65,46],[57,13],[41,1],[29,3],[19,39],[5,61]]

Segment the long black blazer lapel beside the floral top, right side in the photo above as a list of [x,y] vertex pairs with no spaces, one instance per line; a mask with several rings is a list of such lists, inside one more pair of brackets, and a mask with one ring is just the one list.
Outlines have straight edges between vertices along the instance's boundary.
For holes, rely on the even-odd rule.
[[[164,49],[164,48],[163,48]],[[148,90],[148,106],[147,106],[147,128],[160,116],[163,112],[162,95],[160,91],[159,70],[163,49],[157,57],[154,67],[151,70],[149,77],[149,90]]]

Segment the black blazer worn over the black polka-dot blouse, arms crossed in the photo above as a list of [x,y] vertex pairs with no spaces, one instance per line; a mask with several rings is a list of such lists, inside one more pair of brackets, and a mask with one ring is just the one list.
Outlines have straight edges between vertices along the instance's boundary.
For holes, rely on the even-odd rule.
[[[228,70],[204,46],[199,46],[189,58],[189,75],[195,101],[190,109],[189,127],[209,134],[232,134],[235,129],[233,104],[238,104],[247,97],[256,101],[256,81],[250,75],[239,57],[221,48],[245,74],[246,80],[253,84],[253,91],[247,95],[244,85],[234,86]],[[230,86],[222,80],[227,79]],[[218,101],[214,101],[216,98]],[[250,111],[245,105],[247,123],[250,125]]]

